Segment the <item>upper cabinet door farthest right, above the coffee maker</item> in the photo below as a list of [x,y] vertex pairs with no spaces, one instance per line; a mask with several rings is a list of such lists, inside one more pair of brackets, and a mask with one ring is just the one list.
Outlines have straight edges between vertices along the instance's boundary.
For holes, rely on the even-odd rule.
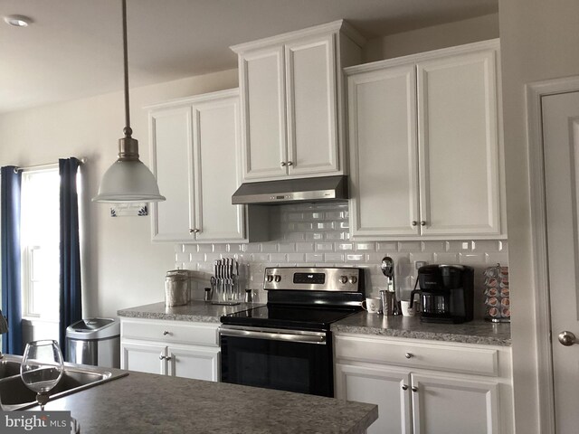
[[424,235],[500,233],[496,55],[417,65]]

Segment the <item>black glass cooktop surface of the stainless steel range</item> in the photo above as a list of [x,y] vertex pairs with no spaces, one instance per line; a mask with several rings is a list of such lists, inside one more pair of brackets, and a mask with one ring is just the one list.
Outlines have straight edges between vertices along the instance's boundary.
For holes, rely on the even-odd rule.
[[329,330],[331,323],[352,315],[358,310],[353,308],[319,309],[315,307],[262,306],[222,316],[221,322],[228,325],[252,327]]

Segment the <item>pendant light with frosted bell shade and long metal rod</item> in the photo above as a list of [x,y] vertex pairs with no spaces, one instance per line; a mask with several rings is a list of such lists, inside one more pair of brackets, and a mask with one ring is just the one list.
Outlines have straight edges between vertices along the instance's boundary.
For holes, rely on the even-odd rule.
[[100,181],[99,193],[92,198],[99,203],[162,202],[155,176],[138,159],[138,140],[131,137],[128,114],[128,50],[127,50],[127,1],[123,6],[123,53],[125,67],[125,137],[119,138],[119,159],[114,162]]

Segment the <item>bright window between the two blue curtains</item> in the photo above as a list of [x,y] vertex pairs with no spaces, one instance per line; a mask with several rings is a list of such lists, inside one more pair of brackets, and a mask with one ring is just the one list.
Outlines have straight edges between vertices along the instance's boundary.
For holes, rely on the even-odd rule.
[[23,316],[59,319],[60,176],[58,166],[22,174]]

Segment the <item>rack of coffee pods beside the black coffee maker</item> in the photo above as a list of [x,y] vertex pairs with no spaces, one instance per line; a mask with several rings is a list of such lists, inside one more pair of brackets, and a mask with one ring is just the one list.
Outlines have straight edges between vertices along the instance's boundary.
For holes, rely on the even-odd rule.
[[508,289],[508,267],[489,267],[485,276],[485,319],[493,323],[510,321],[510,291]]

